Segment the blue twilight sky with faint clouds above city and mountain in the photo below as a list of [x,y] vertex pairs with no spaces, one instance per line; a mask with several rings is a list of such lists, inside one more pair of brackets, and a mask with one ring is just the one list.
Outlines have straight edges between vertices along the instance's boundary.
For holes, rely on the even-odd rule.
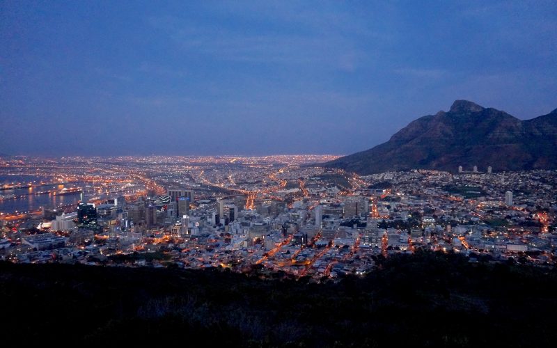
[[0,153],[348,154],[556,96],[554,0],[0,1]]

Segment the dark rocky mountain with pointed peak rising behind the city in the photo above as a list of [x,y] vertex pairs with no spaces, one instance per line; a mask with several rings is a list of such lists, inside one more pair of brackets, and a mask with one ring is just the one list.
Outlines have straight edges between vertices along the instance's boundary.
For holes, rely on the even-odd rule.
[[324,164],[360,174],[409,169],[520,171],[557,168],[557,109],[531,120],[456,100],[418,118],[386,143]]

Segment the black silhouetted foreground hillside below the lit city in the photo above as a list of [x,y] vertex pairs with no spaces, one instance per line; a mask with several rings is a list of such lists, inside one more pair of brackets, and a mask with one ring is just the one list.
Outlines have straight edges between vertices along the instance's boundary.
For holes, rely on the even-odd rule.
[[[556,271],[420,253],[338,284],[226,271],[0,264],[3,342],[554,347]],[[6,346],[8,347],[8,346]]]

